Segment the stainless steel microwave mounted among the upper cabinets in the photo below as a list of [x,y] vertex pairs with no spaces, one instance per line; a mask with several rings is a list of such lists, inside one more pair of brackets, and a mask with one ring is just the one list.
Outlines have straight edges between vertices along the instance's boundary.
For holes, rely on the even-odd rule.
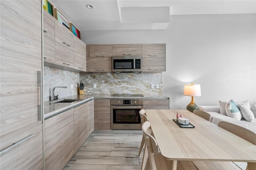
[[142,56],[113,56],[112,71],[115,73],[140,73],[142,71]]

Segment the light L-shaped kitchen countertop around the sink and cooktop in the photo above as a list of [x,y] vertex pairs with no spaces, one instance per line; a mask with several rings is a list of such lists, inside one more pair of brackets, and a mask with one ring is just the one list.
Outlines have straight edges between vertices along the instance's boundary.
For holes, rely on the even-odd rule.
[[72,109],[83,103],[86,103],[93,99],[117,99],[117,98],[129,98],[129,99],[169,99],[168,96],[160,96],[156,94],[143,94],[144,97],[112,97],[110,94],[84,94],[84,95],[73,95],[58,99],[78,99],[72,103],[56,103],[56,101],[45,101],[44,102],[44,119]]

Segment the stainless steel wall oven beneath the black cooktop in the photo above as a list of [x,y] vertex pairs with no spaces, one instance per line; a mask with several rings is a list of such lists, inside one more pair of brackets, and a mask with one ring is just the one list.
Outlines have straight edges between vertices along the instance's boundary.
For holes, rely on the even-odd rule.
[[111,129],[140,130],[142,99],[111,99]]

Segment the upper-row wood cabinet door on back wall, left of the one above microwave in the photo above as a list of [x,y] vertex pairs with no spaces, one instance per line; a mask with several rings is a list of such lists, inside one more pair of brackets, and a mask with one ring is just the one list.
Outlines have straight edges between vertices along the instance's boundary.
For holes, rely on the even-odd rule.
[[90,45],[90,58],[112,57],[112,44]]

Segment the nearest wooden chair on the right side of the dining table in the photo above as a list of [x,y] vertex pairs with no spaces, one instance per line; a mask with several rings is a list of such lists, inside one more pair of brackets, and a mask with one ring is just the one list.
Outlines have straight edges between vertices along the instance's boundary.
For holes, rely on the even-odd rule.
[[[238,125],[224,122],[224,121],[219,122],[218,126],[256,145],[256,134],[254,132],[246,128],[240,127]],[[237,169],[231,162],[193,161],[193,163],[196,165],[196,167],[199,170],[200,169],[216,170],[216,167],[218,167],[218,170],[224,170],[224,169],[236,170]],[[256,169],[256,167],[254,167],[253,164],[250,164],[250,162],[247,164],[248,164],[247,169],[248,167],[249,169],[253,169],[253,170]]]

